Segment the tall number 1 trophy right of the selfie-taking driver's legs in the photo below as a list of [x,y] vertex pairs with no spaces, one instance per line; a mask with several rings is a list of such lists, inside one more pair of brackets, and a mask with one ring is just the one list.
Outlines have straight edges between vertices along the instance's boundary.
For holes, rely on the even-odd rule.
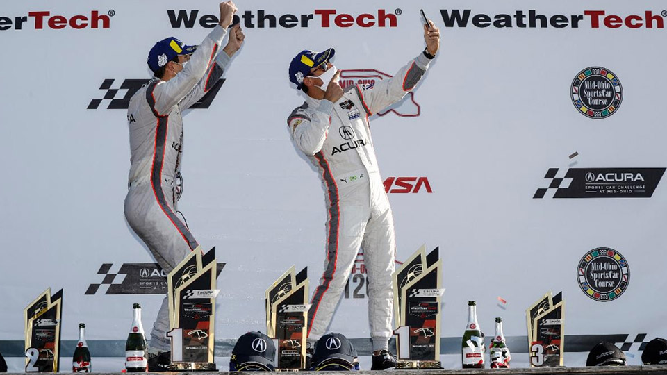
[[421,247],[392,275],[397,369],[440,369],[442,260]]

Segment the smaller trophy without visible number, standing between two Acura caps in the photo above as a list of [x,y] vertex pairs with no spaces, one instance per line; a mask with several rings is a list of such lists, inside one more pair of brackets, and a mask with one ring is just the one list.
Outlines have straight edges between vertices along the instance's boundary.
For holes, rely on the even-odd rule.
[[292,266],[265,292],[266,333],[278,340],[278,371],[306,367],[308,271]]

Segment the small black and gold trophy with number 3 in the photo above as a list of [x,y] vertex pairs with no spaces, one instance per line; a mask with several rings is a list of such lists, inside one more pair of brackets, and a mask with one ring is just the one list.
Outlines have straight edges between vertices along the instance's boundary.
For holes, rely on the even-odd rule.
[[564,314],[562,292],[553,297],[548,292],[526,310],[531,367],[563,365]]

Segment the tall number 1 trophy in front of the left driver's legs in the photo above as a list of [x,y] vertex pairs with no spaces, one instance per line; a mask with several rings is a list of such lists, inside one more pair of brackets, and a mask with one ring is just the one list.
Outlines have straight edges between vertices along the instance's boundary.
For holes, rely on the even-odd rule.
[[197,247],[167,275],[171,371],[215,371],[215,297],[218,265],[215,247]]

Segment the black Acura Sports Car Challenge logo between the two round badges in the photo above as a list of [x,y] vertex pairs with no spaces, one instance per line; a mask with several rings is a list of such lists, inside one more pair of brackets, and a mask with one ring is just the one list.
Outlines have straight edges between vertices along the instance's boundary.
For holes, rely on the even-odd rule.
[[554,198],[650,198],[665,168],[570,168],[563,177],[558,171],[547,171],[549,187],[539,188],[534,199],[544,198],[549,190]]

